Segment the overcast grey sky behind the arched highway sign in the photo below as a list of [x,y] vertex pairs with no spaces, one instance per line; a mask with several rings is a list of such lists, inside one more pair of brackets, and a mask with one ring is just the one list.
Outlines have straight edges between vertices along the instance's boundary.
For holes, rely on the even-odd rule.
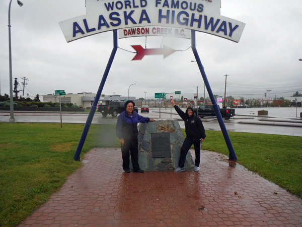
[[[59,22],[86,14],[85,0],[13,0],[11,8],[13,78],[29,79],[25,94],[96,93],[113,47],[113,32],[67,43]],[[215,1],[215,0],[213,0]],[[0,1],[1,94],[9,94],[9,0]],[[196,47],[214,94],[264,98],[302,93],[302,1],[221,0],[221,15],[246,23],[239,43],[196,32]],[[161,44],[176,50],[191,40],[147,37],[147,48]],[[118,46],[145,45],[144,37],[118,40]],[[102,94],[154,98],[156,92],[181,91],[203,96],[203,80],[192,49],[131,61],[134,53],[118,49]],[[180,96],[181,96],[180,95]],[[179,95],[173,95],[179,97]],[[207,92],[206,92],[207,96]]]

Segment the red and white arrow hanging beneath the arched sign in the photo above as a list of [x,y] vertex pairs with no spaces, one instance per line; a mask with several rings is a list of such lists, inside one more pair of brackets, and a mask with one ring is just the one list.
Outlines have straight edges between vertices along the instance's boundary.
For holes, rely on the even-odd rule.
[[157,48],[157,49],[144,49],[141,45],[132,45],[132,48],[136,50],[136,55],[132,59],[135,60],[142,60],[144,55],[154,55],[154,54],[164,54],[164,58],[169,56],[171,53],[174,53],[176,50],[165,46],[164,48]]

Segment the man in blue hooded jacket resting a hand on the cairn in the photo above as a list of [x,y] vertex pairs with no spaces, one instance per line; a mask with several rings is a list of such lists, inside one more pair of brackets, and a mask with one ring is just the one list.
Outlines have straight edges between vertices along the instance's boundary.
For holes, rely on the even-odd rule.
[[116,136],[120,139],[122,147],[123,169],[125,173],[130,173],[129,151],[131,154],[133,171],[136,173],[143,173],[143,170],[140,169],[138,165],[137,123],[155,121],[154,119],[139,116],[137,112],[133,111],[134,105],[133,101],[126,101],[125,111],[118,116],[115,128]]

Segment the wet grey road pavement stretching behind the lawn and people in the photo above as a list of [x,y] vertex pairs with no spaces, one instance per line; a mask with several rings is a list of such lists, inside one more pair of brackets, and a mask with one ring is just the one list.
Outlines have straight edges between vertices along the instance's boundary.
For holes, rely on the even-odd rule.
[[[268,116],[258,117],[257,111],[268,110]],[[172,113],[171,113],[172,112]],[[265,133],[290,136],[302,136],[302,120],[299,118],[302,108],[238,108],[236,117],[230,120],[223,120],[228,131]],[[150,109],[149,113],[140,113],[148,118],[160,119],[159,109]],[[52,122],[60,123],[60,114],[58,112],[15,112],[16,122]],[[62,113],[63,123],[81,123],[85,124],[88,113]],[[177,115],[174,108],[161,108],[161,119],[177,119],[181,128],[184,128],[184,122]],[[0,112],[0,122],[9,122],[10,113]],[[103,117],[101,113],[96,112],[92,124],[115,125],[117,118],[111,116]],[[216,118],[202,118],[203,125],[207,130],[220,130]],[[263,121],[265,120],[265,121]],[[271,124],[271,125],[262,125]],[[284,124],[283,126],[275,124]]]

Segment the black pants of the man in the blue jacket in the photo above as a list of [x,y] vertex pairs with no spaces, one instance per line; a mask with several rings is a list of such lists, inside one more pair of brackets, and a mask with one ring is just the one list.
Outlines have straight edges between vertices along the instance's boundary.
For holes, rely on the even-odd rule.
[[131,161],[134,171],[138,171],[139,165],[138,165],[138,140],[137,138],[134,138],[132,140],[125,140],[124,145],[122,145],[122,157],[123,157],[123,169],[124,171],[129,171],[129,161],[130,161],[130,155],[131,154]]

